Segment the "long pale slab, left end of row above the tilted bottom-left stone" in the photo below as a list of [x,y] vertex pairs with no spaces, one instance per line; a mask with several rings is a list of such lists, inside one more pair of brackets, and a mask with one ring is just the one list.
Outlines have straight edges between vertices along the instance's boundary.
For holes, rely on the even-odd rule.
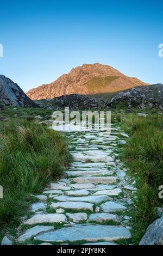
[[36,214],[24,224],[33,225],[36,223],[62,223],[66,222],[66,216],[64,214]]

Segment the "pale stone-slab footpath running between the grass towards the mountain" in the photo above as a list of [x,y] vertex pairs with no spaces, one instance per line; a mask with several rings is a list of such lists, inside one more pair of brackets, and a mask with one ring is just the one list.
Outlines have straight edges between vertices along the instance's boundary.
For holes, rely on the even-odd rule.
[[130,194],[135,181],[118,159],[118,144],[128,135],[112,127],[106,132],[71,132],[73,162],[65,177],[40,195],[23,220],[16,243],[65,245],[126,244],[131,238]]

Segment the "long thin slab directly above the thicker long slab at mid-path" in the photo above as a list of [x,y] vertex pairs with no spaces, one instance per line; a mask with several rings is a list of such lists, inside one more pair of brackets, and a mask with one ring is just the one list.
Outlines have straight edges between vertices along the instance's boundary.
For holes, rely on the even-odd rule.
[[71,170],[65,172],[68,176],[97,176],[97,175],[112,175],[114,172],[111,170]]

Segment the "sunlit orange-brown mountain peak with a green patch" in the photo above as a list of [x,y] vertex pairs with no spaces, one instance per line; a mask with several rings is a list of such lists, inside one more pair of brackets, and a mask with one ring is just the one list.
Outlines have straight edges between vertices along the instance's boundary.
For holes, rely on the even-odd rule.
[[83,64],[60,76],[56,81],[29,90],[32,100],[53,99],[66,94],[99,95],[147,84],[123,75],[108,65]]

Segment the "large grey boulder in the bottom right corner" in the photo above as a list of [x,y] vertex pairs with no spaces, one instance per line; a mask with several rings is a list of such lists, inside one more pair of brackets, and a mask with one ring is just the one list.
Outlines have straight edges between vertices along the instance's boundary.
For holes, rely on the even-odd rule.
[[163,217],[149,225],[139,245],[163,245]]

